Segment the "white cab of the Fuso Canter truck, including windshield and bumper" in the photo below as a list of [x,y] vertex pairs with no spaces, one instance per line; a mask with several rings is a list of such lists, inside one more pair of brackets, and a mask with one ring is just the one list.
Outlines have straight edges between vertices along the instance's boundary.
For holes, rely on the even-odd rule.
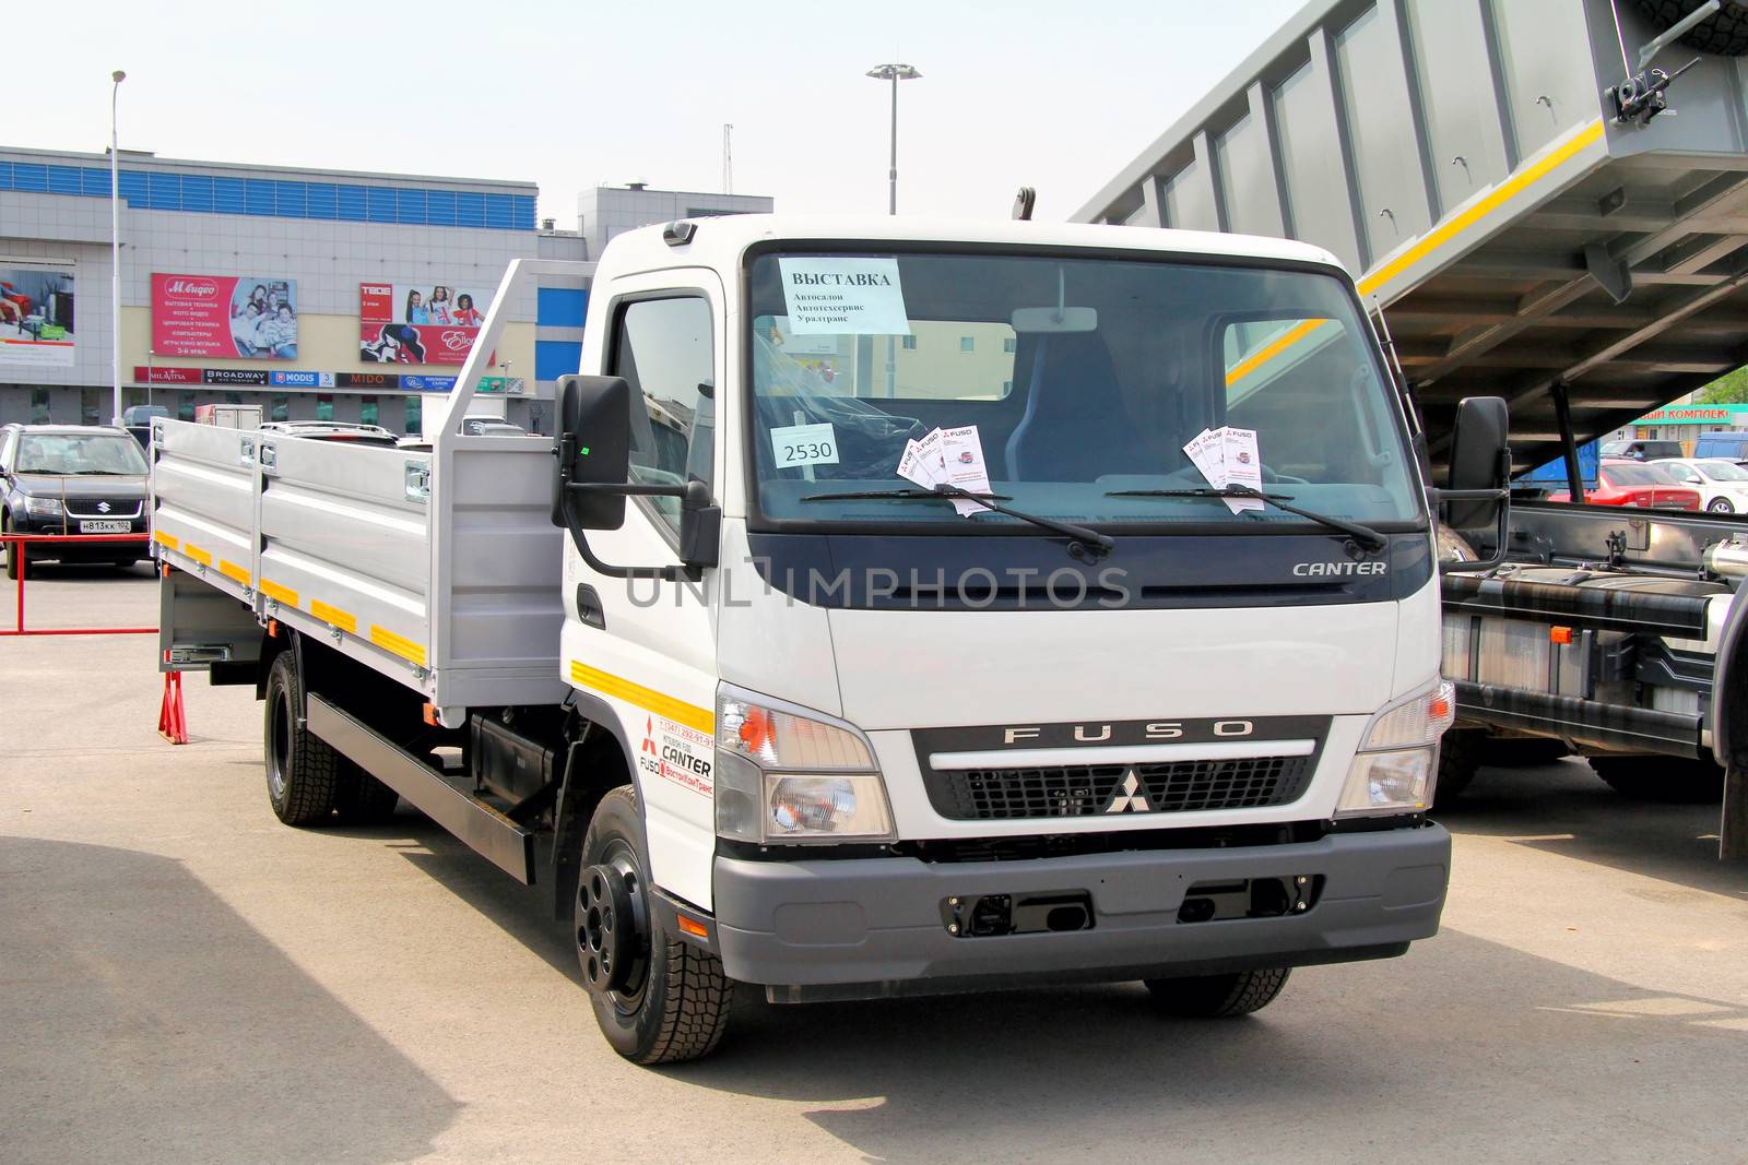
[[[1171,994],[1435,931],[1426,484],[1332,257],[741,217],[615,239],[586,337],[563,667],[729,978]],[[1224,428],[1255,498],[1185,452]],[[965,430],[995,505],[900,477]]]

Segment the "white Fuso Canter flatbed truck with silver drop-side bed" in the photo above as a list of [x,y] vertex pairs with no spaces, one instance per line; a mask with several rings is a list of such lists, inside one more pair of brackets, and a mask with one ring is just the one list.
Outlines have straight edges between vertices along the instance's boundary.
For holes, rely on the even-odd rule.
[[[287,824],[406,798],[551,882],[633,1060],[732,982],[1241,1015],[1437,931],[1453,501],[1318,248],[678,222],[603,253],[556,438],[152,424],[164,667],[255,685]],[[1503,407],[1458,428],[1500,505]]]

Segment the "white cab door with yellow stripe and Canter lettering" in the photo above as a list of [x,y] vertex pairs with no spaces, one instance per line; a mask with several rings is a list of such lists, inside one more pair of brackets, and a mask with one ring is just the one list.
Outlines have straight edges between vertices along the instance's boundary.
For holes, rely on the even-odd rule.
[[[601,318],[591,304],[582,367],[631,386],[631,480],[703,480],[720,498],[720,281],[710,271],[666,271],[614,279],[607,290]],[[591,531],[589,547],[612,566],[678,564],[678,498],[629,500],[624,526]],[[619,727],[643,805],[650,877],[704,908],[715,854],[717,594],[715,569],[680,582],[612,578],[565,540],[565,679],[584,716]]]

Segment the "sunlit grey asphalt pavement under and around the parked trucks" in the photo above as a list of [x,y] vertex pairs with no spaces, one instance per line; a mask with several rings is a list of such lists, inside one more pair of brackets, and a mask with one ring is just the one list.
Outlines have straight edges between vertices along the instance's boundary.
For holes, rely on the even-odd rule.
[[[152,624],[147,566],[31,620]],[[10,587],[0,590],[10,622]],[[1743,1162],[1748,870],[1717,810],[1489,769],[1444,931],[1196,1024],[1140,985],[601,1041],[565,927],[402,807],[288,830],[246,688],[154,728],[154,639],[0,639],[0,1162]]]

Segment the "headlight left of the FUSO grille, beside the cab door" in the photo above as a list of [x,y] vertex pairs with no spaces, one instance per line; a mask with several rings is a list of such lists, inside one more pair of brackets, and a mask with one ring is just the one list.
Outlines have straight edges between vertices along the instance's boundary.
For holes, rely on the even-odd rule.
[[722,685],[718,837],[759,844],[897,840],[867,737],[816,716]]

